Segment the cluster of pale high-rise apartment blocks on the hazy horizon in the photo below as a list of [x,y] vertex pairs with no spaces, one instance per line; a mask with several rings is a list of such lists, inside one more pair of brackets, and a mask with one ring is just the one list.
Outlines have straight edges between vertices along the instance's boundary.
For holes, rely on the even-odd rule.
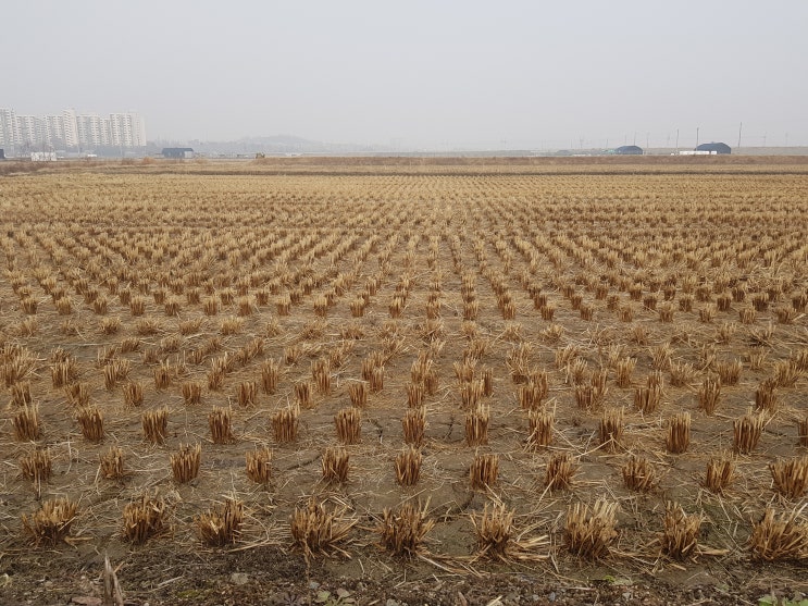
[[146,147],[146,123],[137,113],[22,115],[0,108],[0,146],[7,153]]

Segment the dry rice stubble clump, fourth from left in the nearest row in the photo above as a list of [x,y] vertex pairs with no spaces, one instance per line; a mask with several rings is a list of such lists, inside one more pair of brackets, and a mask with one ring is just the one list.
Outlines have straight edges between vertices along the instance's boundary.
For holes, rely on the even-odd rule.
[[357,521],[346,519],[346,507],[328,511],[313,497],[306,507],[295,507],[289,524],[291,541],[303,552],[307,561],[319,554],[339,553],[347,556],[339,544],[348,537]]

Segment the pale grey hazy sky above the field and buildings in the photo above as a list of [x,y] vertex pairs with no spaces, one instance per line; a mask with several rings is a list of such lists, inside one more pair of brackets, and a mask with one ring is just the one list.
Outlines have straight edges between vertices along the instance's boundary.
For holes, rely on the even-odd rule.
[[3,4],[0,107],[149,139],[808,145],[806,0]]

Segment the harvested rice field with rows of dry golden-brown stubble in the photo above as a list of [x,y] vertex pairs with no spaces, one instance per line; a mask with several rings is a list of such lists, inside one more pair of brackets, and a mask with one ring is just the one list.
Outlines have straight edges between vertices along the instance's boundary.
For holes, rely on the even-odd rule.
[[808,593],[804,159],[318,160],[4,168],[4,603]]

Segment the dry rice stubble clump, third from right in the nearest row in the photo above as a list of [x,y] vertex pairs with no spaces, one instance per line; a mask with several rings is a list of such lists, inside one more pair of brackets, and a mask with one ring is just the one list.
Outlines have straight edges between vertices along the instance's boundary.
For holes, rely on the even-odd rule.
[[588,506],[573,504],[567,510],[564,541],[567,548],[579,557],[600,559],[609,554],[609,546],[618,536],[617,503],[598,499],[589,516]]

